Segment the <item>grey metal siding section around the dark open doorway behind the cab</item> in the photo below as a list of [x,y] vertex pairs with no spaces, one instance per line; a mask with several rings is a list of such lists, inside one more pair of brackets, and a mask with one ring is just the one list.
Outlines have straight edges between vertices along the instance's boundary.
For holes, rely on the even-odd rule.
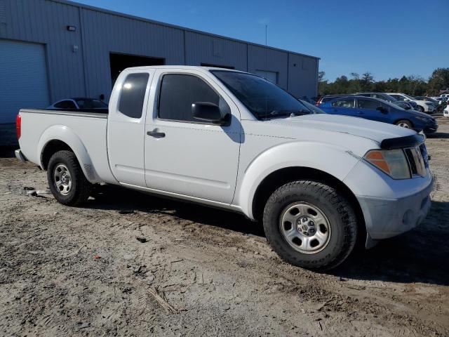
[[184,61],[182,29],[81,8],[86,41],[88,95],[109,98],[112,84],[109,53],[165,58],[167,65]]

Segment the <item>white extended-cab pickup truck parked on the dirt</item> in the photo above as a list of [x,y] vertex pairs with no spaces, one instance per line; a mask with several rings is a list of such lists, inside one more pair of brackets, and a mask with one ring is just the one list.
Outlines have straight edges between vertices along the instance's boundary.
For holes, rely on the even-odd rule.
[[108,114],[20,110],[17,128],[16,156],[47,171],[61,204],[107,183],[237,211],[310,269],[412,229],[430,207],[424,136],[317,114],[246,72],[129,68]]

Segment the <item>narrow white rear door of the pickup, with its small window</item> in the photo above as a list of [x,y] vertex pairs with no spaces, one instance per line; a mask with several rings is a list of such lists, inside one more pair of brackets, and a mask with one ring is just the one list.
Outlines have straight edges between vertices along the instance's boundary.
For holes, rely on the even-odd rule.
[[153,75],[154,70],[126,70],[111,95],[107,153],[120,183],[145,186],[145,111]]

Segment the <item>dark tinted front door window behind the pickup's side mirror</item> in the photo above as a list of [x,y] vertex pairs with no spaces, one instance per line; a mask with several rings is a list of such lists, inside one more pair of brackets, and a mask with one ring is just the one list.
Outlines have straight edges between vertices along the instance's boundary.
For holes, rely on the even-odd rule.
[[220,95],[199,77],[185,74],[163,76],[159,96],[159,118],[199,122],[192,117],[192,103],[196,102],[214,103],[219,105],[222,111],[222,105],[227,105],[224,100],[220,100]]

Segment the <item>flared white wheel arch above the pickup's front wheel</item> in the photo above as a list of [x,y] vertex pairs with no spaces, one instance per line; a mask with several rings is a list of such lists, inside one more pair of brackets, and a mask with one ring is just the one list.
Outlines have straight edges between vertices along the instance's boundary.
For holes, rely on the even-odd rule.
[[324,171],[344,180],[360,157],[342,147],[328,143],[293,142],[276,145],[257,156],[243,172],[234,204],[254,220],[253,201],[257,187],[271,173],[290,167],[307,167]]

